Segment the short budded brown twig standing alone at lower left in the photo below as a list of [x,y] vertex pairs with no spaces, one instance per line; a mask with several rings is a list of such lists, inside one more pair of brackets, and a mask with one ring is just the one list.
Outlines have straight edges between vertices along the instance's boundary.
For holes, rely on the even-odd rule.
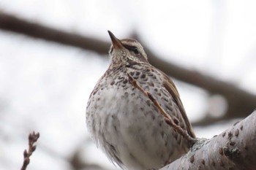
[[26,167],[29,165],[30,156],[32,153],[36,150],[37,146],[34,145],[35,142],[37,142],[37,139],[39,138],[39,133],[35,134],[34,131],[29,134],[29,152],[27,150],[24,150],[23,156],[23,165],[20,170],[26,170]]

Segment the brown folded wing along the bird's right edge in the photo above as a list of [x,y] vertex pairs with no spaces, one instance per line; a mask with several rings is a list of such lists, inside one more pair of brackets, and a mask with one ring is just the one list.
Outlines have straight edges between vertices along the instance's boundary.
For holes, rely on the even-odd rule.
[[184,119],[184,122],[186,123],[187,132],[188,132],[189,136],[191,136],[192,138],[195,138],[195,133],[192,130],[191,124],[189,123],[189,119],[187,118],[187,114],[186,114],[183,104],[181,102],[181,98],[179,97],[178,90],[177,90],[176,86],[174,85],[173,81],[170,80],[170,78],[165,73],[162,72],[162,74],[164,75],[164,87],[170,93],[170,95],[173,96],[174,101],[176,102],[179,110],[181,111],[181,115]]

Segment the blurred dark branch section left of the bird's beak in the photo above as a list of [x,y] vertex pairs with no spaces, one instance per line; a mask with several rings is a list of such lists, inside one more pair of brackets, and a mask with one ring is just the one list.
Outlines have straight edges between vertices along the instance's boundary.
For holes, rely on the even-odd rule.
[[108,53],[109,43],[107,42],[42,26],[38,23],[29,22],[2,12],[0,12],[0,28],[7,31],[26,34],[27,36],[32,36],[34,38],[92,50],[99,54]]

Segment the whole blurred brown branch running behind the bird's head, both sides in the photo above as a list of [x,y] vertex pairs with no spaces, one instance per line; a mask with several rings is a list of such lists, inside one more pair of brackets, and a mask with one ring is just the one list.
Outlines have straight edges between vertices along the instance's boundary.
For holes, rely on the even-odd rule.
[[[26,34],[39,39],[46,39],[53,42],[59,42],[64,45],[72,45],[80,47],[85,50],[92,50],[99,54],[107,54],[110,43],[100,41],[99,39],[92,39],[88,36],[80,36],[78,34],[71,34],[65,31],[59,31],[54,28],[41,26],[37,23],[32,23],[12,15],[7,15],[0,12],[0,28],[7,31],[14,31],[20,34]],[[148,48],[145,48],[148,54],[148,60],[152,65],[161,69],[170,76],[195,85],[197,87],[208,90],[210,93],[215,93],[224,96],[227,99],[228,109],[222,120],[228,120],[233,117],[246,117],[252,110],[256,108],[256,96],[251,93],[236,87],[229,82],[217,80],[206,74],[200,74],[189,69],[184,69],[181,66],[167,62],[157,57]],[[207,118],[207,120],[209,120]],[[213,123],[219,119],[211,119],[208,123]],[[205,122],[205,121],[203,121]],[[197,125],[203,125],[197,123]]]

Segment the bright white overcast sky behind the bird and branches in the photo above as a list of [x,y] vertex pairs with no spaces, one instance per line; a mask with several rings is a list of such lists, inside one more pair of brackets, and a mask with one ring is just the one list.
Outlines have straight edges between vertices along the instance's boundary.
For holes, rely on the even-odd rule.
[[[242,0],[0,0],[1,12],[108,42],[107,30],[120,39],[136,32],[167,61],[254,94],[255,7]],[[0,169],[20,168],[30,131],[41,136],[29,169],[69,169],[64,158],[88,139],[86,102],[108,64],[96,53],[0,30]],[[202,117],[208,94],[175,82],[189,119]],[[228,125],[195,130],[210,138]],[[86,144],[86,158],[108,163]]]

